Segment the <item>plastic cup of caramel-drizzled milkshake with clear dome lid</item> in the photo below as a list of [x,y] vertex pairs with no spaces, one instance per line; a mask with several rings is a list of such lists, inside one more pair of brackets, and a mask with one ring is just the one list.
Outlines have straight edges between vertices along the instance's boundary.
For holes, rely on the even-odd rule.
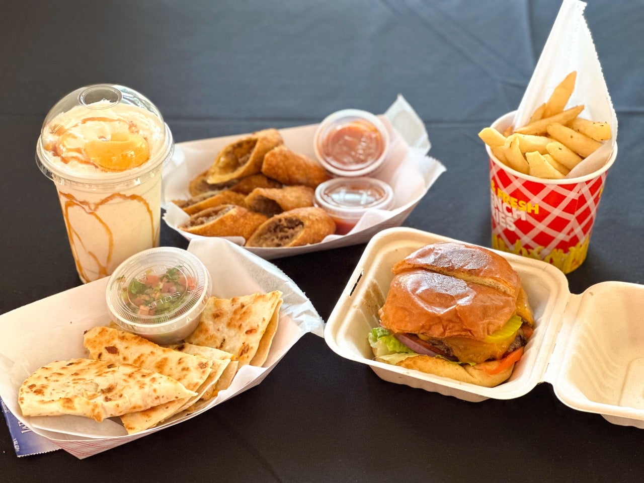
[[82,87],[48,113],[36,162],[55,183],[83,283],[158,247],[161,172],[173,151],[156,106],[124,86]]

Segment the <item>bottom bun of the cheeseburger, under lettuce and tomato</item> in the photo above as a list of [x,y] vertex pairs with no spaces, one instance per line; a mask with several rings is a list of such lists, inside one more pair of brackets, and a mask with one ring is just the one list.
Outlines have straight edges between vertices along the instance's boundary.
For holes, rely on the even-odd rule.
[[469,364],[454,364],[439,357],[432,357],[430,355],[410,355],[395,361],[388,361],[388,357],[376,357],[375,360],[400,366],[408,369],[414,369],[426,374],[439,375],[441,377],[448,377],[455,381],[462,383],[476,384],[477,386],[484,386],[486,388],[493,388],[500,383],[504,383],[512,375],[512,370],[515,365],[511,365],[506,369],[498,372],[498,374],[489,374],[487,370],[494,370],[498,365],[498,361],[488,361],[474,366]]

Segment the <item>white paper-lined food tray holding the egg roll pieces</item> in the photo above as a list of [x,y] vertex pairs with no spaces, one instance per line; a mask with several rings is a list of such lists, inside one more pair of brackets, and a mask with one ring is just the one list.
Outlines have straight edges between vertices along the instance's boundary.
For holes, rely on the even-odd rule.
[[[366,243],[375,233],[386,228],[400,226],[429,191],[435,180],[445,171],[445,167],[438,160],[427,156],[431,147],[427,131],[421,118],[402,96],[399,96],[384,115],[381,115],[381,120],[389,129],[390,155],[383,168],[376,175],[370,176],[379,178],[392,186],[395,204],[391,210],[372,209],[367,211],[348,234],[333,234],[327,236],[320,243],[292,248],[247,247],[247,250],[265,260],[271,260]],[[279,129],[279,133],[285,146],[296,153],[315,159],[313,138],[317,126],[317,124],[311,124]],[[171,164],[164,168],[163,173],[162,206],[166,209],[163,218],[169,227],[182,234],[187,240],[207,237],[191,234],[178,228],[188,219],[188,215],[172,200],[190,198],[189,181],[206,171],[223,147],[246,135],[240,134],[176,144],[175,156],[173,156]],[[240,245],[244,242],[241,237],[228,239]]]

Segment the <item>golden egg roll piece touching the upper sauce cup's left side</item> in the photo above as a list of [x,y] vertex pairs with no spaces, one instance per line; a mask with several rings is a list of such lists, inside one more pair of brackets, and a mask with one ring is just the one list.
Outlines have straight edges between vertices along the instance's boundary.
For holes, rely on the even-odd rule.
[[331,178],[315,160],[295,153],[284,145],[266,153],[261,172],[283,184],[299,184],[312,188]]

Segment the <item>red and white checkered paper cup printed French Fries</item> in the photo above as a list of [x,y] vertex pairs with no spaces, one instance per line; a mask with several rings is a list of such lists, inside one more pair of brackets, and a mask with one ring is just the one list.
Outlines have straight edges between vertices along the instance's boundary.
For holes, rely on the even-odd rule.
[[[503,132],[514,113],[498,118],[492,126]],[[544,180],[528,176],[489,156],[492,247],[553,264],[572,272],[586,258],[597,208],[609,167],[587,176]]]

